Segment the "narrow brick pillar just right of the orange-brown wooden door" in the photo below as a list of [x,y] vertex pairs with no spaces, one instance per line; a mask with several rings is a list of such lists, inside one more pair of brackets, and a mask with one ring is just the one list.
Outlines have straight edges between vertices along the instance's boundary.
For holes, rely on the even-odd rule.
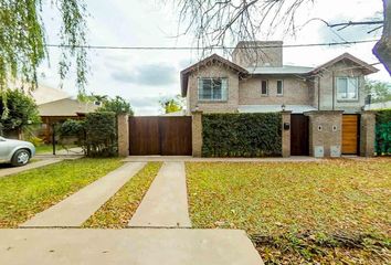
[[376,113],[362,112],[360,118],[360,156],[373,157],[374,155],[374,126]]

